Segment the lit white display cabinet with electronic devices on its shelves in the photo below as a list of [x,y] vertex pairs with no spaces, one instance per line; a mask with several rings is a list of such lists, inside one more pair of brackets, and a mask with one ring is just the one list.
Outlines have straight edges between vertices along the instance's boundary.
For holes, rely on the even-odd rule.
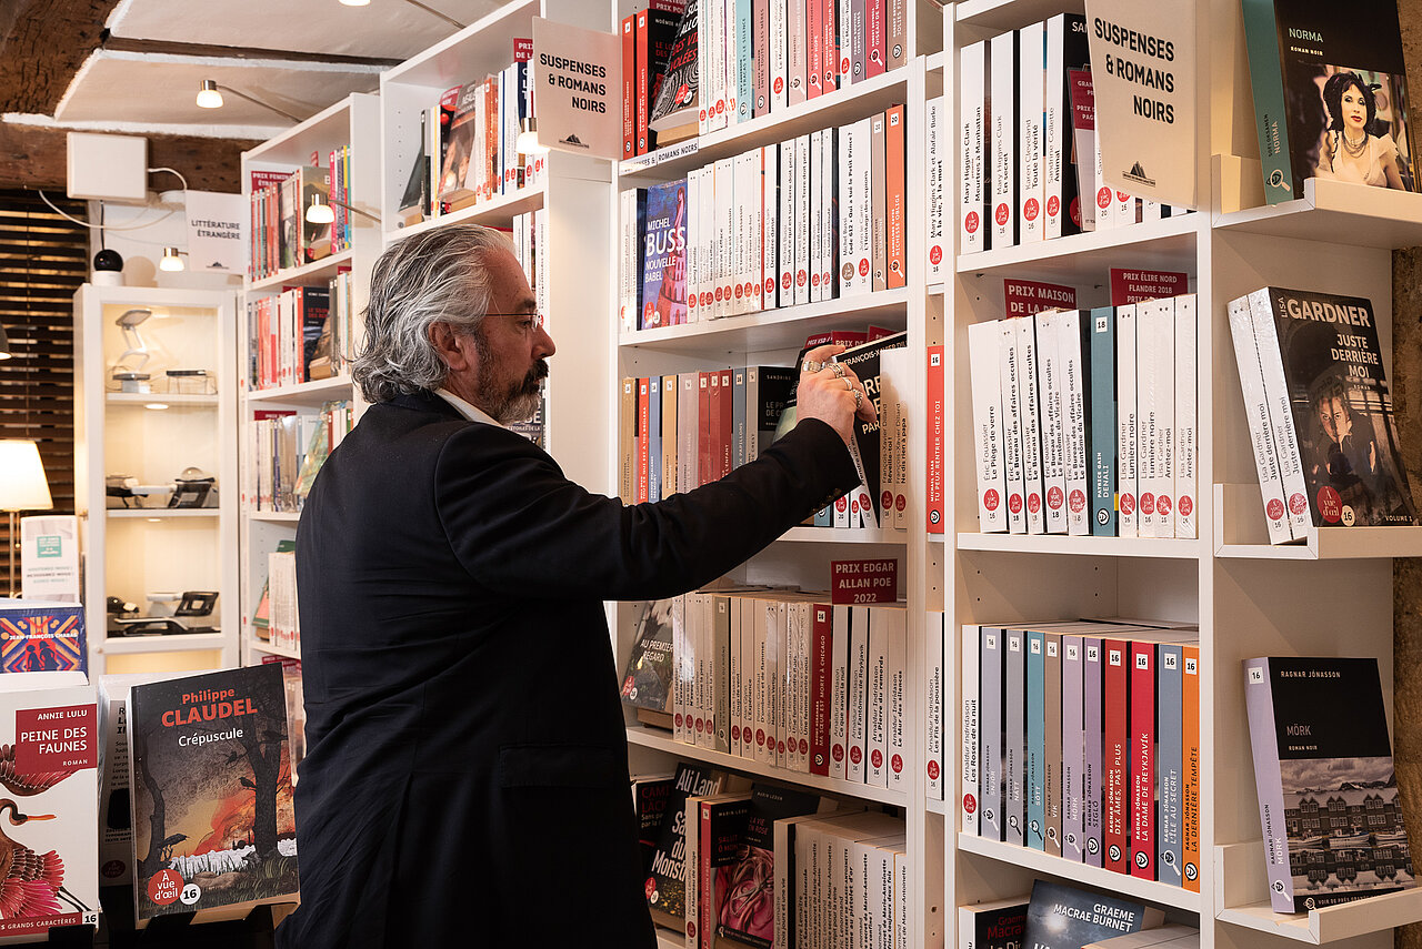
[[[135,327],[146,361],[141,355],[121,359],[132,341],[125,340],[118,320],[132,310],[151,314]],[[91,675],[166,668],[172,661],[199,669],[235,665],[239,469],[233,294],[85,284],[74,295],[74,503],[87,551],[84,619]],[[146,372],[151,391],[119,392],[121,384],[112,378],[119,362]],[[202,388],[210,391],[169,392],[178,384],[166,369],[206,369],[209,381]],[[186,467],[216,477],[216,507],[171,509],[164,506],[164,494],[142,499],[154,507],[107,506],[108,474],[171,487]],[[135,602],[149,615],[154,605],[148,594],[185,590],[218,591],[213,615],[199,622],[219,632],[107,635],[107,597]]]

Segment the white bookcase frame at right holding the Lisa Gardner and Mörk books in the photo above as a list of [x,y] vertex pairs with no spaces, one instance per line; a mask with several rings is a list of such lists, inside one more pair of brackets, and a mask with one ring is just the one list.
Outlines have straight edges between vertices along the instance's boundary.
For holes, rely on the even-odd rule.
[[[944,10],[946,125],[958,112],[958,51],[1079,0],[967,0]],[[1196,6],[1200,212],[1183,217],[957,257],[929,288],[941,317],[948,413],[946,469],[951,541],[944,550],[946,652],[958,655],[964,624],[1075,615],[1196,621],[1200,627],[1202,865],[1199,892],[1140,881],[960,831],[960,776],[944,801],[944,904],[951,908],[1025,894],[1035,877],[1122,892],[1200,928],[1207,949],[1291,939],[1388,946],[1392,928],[1422,919],[1416,891],[1304,915],[1268,908],[1254,794],[1241,661],[1257,655],[1371,655],[1392,699],[1392,557],[1418,555],[1422,528],[1314,530],[1303,544],[1270,547],[1249,450],[1226,304],[1263,286],[1349,293],[1372,300],[1391,372],[1391,249],[1419,243],[1416,195],[1310,180],[1304,195],[1264,207],[1253,102],[1237,3]],[[951,136],[950,136],[951,138]],[[960,180],[950,143],[946,213],[957,232]],[[1197,294],[1199,540],[983,534],[970,426],[967,327],[1003,317],[1004,277],[1076,288],[1078,305],[1109,303],[1109,267],[1183,270]],[[1327,561],[1327,563],[1322,563]],[[1340,597],[1331,591],[1347,591]],[[1347,635],[1340,631],[1347,629]],[[961,709],[948,661],[944,759],[957,761]],[[951,916],[956,919],[956,915]],[[946,945],[953,945],[950,932]]]

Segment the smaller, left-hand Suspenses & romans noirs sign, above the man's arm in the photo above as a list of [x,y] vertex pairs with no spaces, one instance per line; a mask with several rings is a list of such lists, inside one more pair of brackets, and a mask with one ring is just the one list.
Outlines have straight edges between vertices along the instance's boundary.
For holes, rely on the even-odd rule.
[[539,145],[616,161],[621,155],[621,47],[597,33],[533,18],[533,112]]

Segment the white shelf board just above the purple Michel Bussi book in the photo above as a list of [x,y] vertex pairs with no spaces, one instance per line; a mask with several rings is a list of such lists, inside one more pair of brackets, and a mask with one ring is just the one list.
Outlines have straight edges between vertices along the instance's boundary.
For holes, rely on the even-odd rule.
[[647,175],[670,180],[720,158],[729,158],[761,145],[774,145],[816,129],[866,118],[890,105],[904,102],[910,72],[909,68],[880,72],[863,82],[855,82],[828,95],[757,116],[749,122],[737,122],[697,139],[687,139],[648,155],[627,159],[619,165],[619,175],[621,178]]

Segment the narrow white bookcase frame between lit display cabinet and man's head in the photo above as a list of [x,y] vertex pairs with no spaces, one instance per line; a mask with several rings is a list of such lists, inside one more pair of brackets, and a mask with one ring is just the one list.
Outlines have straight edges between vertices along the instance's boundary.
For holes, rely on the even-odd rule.
[[[257,172],[290,172],[310,165],[313,156],[330,169],[330,153],[334,149],[350,148],[350,203],[357,210],[378,217],[377,182],[380,180],[380,111],[374,95],[351,94],[330,108],[313,115],[287,132],[242,153],[242,189],[252,197],[253,175]],[[283,540],[296,538],[294,511],[257,510],[255,501],[255,467],[257,465],[255,419],[259,412],[316,413],[330,401],[348,399],[360,412],[360,401],[351,385],[350,369],[344,368],[331,378],[314,379],[256,388],[249,376],[249,367],[256,359],[256,340],[250,307],[264,298],[272,298],[290,287],[327,287],[341,271],[351,271],[351,307],[356,314],[365,304],[370,267],[380,250],[380,226],[374,219],[360,213],[350,215],[351,246],[310,263],[280,270],[270,277],[243,283],[243,314],[240,317],[240,421],[243,492],[240,506],[240,590],[242,590],[242,661],[262,662],[263,656],[284,656],[300,659],[297,649],[283,649],[270,641],[256,636],[252,617],[262,597],[267,578],[267,554]],[[334,308],[334,304],[333,304]],[[360,332],[360,321],[353,320],[353,328]]]

